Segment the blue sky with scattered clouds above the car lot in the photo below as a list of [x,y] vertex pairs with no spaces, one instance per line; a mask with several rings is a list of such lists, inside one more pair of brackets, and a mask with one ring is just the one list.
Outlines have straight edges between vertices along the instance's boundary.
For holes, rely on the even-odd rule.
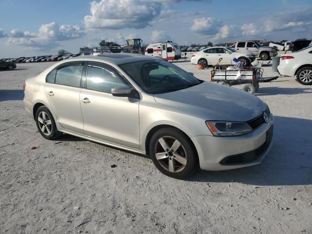
[[312,0],[0,0],[0,58],[78,53],[131,38],[312,39]]

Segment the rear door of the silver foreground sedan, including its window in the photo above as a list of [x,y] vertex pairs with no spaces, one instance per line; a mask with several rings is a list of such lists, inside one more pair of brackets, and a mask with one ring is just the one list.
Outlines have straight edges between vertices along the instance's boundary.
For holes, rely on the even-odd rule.
[[49,104],[59,124],[70,131],[83,133],[80,109],[80,80],[83,62],[67,62],[46,77],[44,86]]

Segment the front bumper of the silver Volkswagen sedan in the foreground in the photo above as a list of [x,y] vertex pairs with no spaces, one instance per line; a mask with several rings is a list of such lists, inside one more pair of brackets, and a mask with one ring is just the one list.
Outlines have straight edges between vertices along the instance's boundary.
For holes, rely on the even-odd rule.
[[[271,113],[268,123],[262,124],[253,132],[243,136],[192,137],[191,139],[195,144],[199,157],[200,168],[207,171],[222,171],[261,163],[272,146],[272,140],[267,141],[267,132],[272,125],[273,114]],[[251,155],[253,153],[257,155],[254,158],[253,155]],[[237,156],[242,155],[248,157],[250,160],[243,160],[243,162],[240,163],[239,160],[237,161]],[[229,158],[232,161],[227,161]]]

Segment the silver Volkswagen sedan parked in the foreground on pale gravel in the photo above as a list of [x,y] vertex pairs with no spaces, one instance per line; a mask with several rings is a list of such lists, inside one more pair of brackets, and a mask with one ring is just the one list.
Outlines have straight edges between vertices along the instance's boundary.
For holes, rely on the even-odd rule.
[[260,163],[273,115],[254,95],[134,54],[66,59],[24,83],[40,134],[63,133],[151,156],[175,178]]

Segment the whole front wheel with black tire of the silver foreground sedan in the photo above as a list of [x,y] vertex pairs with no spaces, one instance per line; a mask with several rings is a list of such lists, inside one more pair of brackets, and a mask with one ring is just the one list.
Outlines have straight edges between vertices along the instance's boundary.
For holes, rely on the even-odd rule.
[[166,176],[184,179],[198,168],[198,157],[191,140],[176,128],[156,131],[149,149],[156,168]]

